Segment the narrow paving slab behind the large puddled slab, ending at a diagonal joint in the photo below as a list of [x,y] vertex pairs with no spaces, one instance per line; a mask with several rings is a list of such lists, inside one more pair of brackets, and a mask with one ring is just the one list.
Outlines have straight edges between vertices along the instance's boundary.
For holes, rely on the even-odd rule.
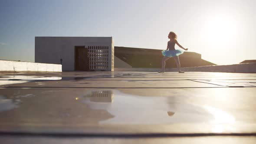
[[[9,82],[9,81],[8,81]],[[22,81],[20,81],[22,82]],[[169,81],[130,81],[130,80],[71,80],[71,81],[43,81],[27,82],[13,85],[2,85],[10,87],[81,87],[81,88],[188,88],[188,87],[220,87],[220,85],[194,82],[190,80]]]

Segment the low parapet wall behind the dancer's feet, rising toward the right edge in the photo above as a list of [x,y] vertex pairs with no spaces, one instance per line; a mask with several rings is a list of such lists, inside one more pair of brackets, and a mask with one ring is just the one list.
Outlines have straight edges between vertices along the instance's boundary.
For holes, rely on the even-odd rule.
[[[159,69],[147,68],[115,68],[115,71],[141,71],[141,72],[158,72]],[[237,73],[256,73],[256,63],[243,63],[235,65],[209,65],[181,68],[185,72],[237,72]],[[176,72],[177,69],[165,69],[166,72]]]

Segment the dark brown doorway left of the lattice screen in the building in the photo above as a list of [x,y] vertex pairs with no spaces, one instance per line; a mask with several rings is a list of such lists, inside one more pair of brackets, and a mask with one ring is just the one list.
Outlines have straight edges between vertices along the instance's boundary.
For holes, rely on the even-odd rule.
[[89,70],[88,49],[85,46],[75,46],[75,70]]

